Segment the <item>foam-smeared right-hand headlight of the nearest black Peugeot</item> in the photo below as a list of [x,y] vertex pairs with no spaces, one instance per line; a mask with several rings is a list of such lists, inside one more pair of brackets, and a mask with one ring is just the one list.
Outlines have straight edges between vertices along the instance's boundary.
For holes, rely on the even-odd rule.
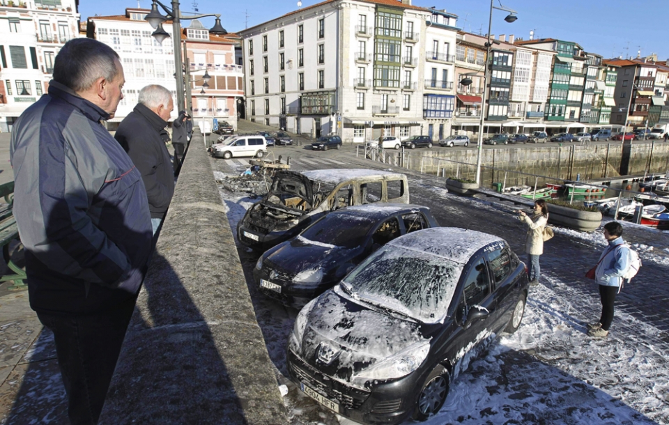
[[387,357],[374,366],[357,373],[351,379],[354,385],[364,386],[368,380],[401,378],[418,369],[430,351],[429,341],[414,343],[399,353]]

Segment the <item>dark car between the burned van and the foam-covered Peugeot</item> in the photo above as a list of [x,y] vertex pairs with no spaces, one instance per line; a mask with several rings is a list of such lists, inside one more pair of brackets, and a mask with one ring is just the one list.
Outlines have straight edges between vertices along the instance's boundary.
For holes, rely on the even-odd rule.
[[265,295],[301,308],[390,240],[437,226],[429,208],[422,206],[383,203],[341,208],[265,252],[253,270],[254,279]]

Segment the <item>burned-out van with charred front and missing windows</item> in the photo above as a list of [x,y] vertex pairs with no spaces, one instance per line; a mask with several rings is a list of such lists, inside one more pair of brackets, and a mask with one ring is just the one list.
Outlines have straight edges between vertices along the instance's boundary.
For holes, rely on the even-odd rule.
[[369,169],[279,171],[267,194],[237,225],[237,238],[265,251],[327,212],[376,202],[409,203],[406,176]]

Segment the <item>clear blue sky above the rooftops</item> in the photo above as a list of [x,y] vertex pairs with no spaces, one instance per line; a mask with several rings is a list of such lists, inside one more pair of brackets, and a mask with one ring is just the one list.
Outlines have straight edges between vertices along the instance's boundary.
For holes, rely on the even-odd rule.
[[[162,1],[168,3],[169,0]],[[196,0],[200,13],[220,13],[223,27],[231,32],[261,24],[297,8],[297,0]],[[494,0],[499,6],[500,0]],[[302,0],[302,7],[319,3]],[[140,0],[140,6],[150,8],[151,1]],[[493,11],[491,33],[514,34],[528,40],[530,31],[535,38],[559,38],[578,42],[587,52],[613,56],[636,57],[656,53],[658,59],[669,59],[669,0],[505,0],[502,4],[518,12],[518,20],[507,24],[507,13]],[[180,3],[183,12],[194,11],[193,1]],[[486,33],[490,10],[489,0],[413,0],[414,6],[446,9],[459,16],[459,26],[465,31]],[[79,5],[82,20],[98,15],[119,15],[127,7],[137,7],[137,0],[98,2],[83,0]],[[248,15],[248,16],[247,16]],[[212,26],[213,20],[203,20]],[[186,25],[186,24],[185,24]]]

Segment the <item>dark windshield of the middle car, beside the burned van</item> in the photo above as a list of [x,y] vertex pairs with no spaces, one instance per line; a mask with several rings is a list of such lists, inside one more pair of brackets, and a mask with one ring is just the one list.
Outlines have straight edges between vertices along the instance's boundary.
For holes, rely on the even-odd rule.
[[362,245],[376,220],[346,213],[331,214],[309,226],[302,239],[337,247],[355,248]]

